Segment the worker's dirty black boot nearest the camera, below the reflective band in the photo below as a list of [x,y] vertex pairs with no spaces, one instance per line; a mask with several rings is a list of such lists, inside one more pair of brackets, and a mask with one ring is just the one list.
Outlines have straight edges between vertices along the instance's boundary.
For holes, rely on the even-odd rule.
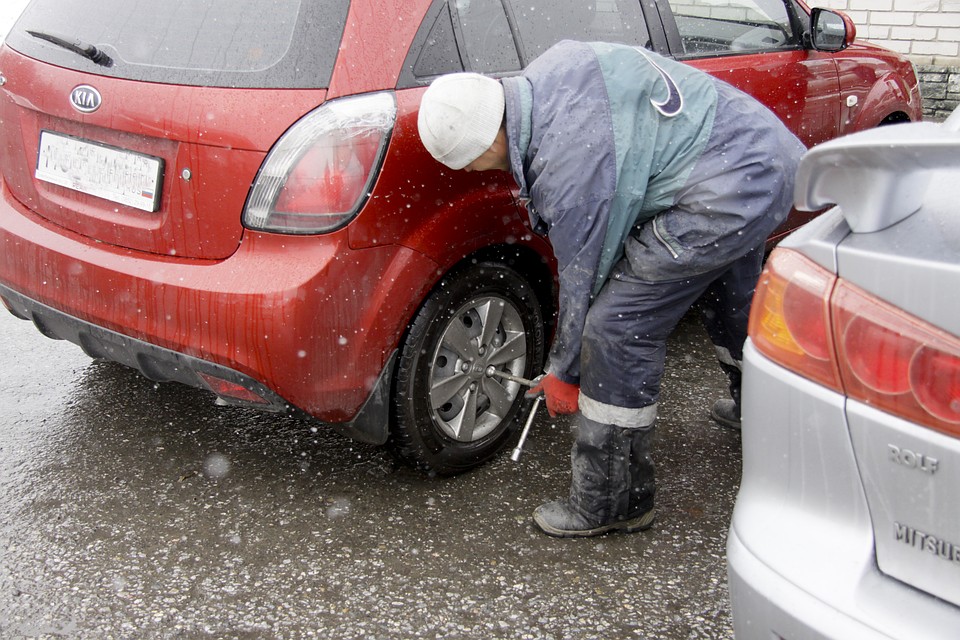
[[538,507],[534,523],[558,538],[649,529],[655,491],[652,437],[652,426],[624,429],[581,416],[571,453],[570,498]]

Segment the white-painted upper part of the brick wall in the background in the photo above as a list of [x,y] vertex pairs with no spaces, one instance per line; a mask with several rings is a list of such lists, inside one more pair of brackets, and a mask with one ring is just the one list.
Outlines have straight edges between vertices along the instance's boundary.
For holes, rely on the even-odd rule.
[[857,37],[910,57],[917,64],[960,66],[960,0],[810,0],[845,11]]

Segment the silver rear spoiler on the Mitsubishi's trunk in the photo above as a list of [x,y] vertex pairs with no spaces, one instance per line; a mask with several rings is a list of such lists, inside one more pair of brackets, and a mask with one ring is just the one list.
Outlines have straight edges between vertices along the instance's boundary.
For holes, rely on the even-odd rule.
[[957,168],[960,108],[940,124],[888,125],[810,149],[797,169],[794,205],[837,205],[854,233],[879,231],[920,208],[932,171]]

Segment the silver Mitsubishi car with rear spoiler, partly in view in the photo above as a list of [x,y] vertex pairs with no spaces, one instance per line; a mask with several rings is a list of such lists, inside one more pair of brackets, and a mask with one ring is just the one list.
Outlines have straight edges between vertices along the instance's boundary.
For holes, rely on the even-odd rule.
[[744,354],[736,637],[960,637],[960,110],[815,147]]

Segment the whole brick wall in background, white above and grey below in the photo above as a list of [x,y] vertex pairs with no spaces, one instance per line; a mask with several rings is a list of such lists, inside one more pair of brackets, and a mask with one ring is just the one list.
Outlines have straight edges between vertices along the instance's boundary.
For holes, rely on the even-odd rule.
[[906,55],[923,88],[924,114],[942,119],[960,104],[960,0],[811,0],[839,9],[857,37]]

